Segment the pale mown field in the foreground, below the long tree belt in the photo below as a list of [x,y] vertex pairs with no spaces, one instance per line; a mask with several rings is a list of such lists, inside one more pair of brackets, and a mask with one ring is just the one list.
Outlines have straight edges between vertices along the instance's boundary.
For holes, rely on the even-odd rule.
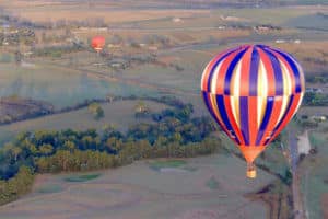
[[[269,214],[265,204],[243,195],[273,177],[259,171],[255,181],[247,180],[245,163],[235,157],[161,161],[161,166],[171,168],[161,172],[152,168],[154,163],[159,161],[136,162],[84,182],[67,181],[81,174],[37,176],[35,192],[0,207],[1,218],[232,219],[267,218]],[[194,171],[173,171],[180,168],[177,164]],[[90,174],[84,175],[89,178]]]

